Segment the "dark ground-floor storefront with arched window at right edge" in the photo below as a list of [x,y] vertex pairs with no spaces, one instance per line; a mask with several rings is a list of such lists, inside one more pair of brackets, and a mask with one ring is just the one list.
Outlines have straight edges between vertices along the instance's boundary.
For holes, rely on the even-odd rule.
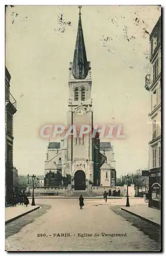
[[149,172],[149,207],[160,209],[161,205],[161,168]]

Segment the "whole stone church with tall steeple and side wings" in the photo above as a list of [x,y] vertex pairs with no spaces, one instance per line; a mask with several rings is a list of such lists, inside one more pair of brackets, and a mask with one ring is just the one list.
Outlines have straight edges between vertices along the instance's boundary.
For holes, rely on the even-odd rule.
[[[111,143],[100,142],[98,130],[93,130],[91,67],[87,61],[79,8],[74,58],[69,65],[67,111],[67,127],[75,125],[78,134],[60,142],[49,142],[44,164],[44,186],[87,190],[92,186],[114,186],[116,170]],[[91,132],[79,136],[82,124],[90,125]]]

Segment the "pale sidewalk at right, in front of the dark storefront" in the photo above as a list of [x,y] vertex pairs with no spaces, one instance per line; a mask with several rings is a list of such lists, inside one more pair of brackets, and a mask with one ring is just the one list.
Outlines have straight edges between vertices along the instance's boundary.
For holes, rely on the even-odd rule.
[[158,209],[148,207],[148,204],[136,205],[130,207],[121,207],[122,210],[130,212],[130,214],[135,215],[136,217],[143,219],[153,225],[160,226],[161,212]]

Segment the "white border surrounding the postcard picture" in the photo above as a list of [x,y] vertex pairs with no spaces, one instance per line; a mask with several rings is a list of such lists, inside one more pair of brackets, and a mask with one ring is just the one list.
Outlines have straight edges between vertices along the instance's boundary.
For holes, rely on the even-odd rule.
[[[1,4],[0,4],[0,7],[1,7],[1,13],[0,13],[0,17],[1,17],[1,33],[3,31],[3,33],[1,34],[1,86],[0,86],[0,97],[1,97],[1,108],[0,108],[0,117],[1,117],[1,131],[0,131],[0,134],[1,134],[1,143],[0,143],[0,147],[1,147],[1,161],[0,161],[0,170],[1,170],[1,186],[0,186],[0,189],[1,189],[1,206],[2,206],[2,210],[0,211],[1,212],[1,218],[0,220],[2,221],[2,226],[5,226],[4,225],[4,220],[5,220],[5,211],[3,209],[3,207],[5,206],[5,199],[4,199],[4,196],[5,196],[5,131],[4,131],[4,125],[5,125],[5,104],[4,104],[4,96],[5,96],[5,87],[4,87],[4,79],[5,79],[5,4],[9,4],[8,3],[9,1],[1,1]],[[165,7],[165,4],[164,4],[164,1],[155,1],[155,0],[151,0],[151,1],[145,1],[145,0],[139,0],[139,1],[123,1],[123,0],[119,0],[119,1],[108,1],[108,0],[102,0],[102,1],[92,1],[92,0],[84,0],[84,1],[66,1],[66,0],[61,0],[61,1],[53,1],[53,0],[47,0],[47,1],[37,1],[37,0],[29,0],[29,1],[23,1],[22,0],[15,0],[14,3],[10,3],[10,4],[13,4],[13,5],[161,5],[163,8]],[[164,17],[163,17],[163,22],[164,22]],[[164,33],[165,32],[165,28],[164,28],[164,31],[163,31],[163,34],[162,36],[164,37]],[[164,38],[163,38],[163,41],[164,41]],[[164,60],[165,58],[163,58],[163,65],[164,65]],[[164,77],[163,77],[164,78]],[[162,86],[164,87],[164,79],[162,81]],[[165,91],[166,90],[162,90],[162,93],[163,93],[163,96],[162,96],[162,100],[164,101],[164,99],[166,98],[165,97]],[[164,107],[164,106],[163,106]],[[164,111],[164,110],[162,110]],[[163,117],[165,119],[165,112],[163,114]],[[163,124],[162,124],[163,125]],[[163,126],[162,126],[163,127]],[[164,129],[166,129],[164,127]],[[163,141],[165,143],[165,139]],[[162,155],[163,156],[163,155]],[[163,157],[164,158],[164,157]],[[164,159],[163,159],[164,160]],[[164,169],[164,168],[162,168]],[[166,184],[165,183],[165,175],[164,175],[164,179],[162,180],[162,185],[163,184]],[[165,191],[163,191],[165,192]],[[164,193],[164,196],[165,196],[165,193]],[[162,201],[163,203],[163,201]],[[164,209],[163,209],[164,210]],[[165,211],[164,211],[165,212]],[[164,218],[164,216],[163,216]],[[5,248],[5,245],[4,245],[4,241],[5,241],[5,227],[4,229],[1,229],[2,232],[1,232],[1,244],[0,244],[0,251],[1,251],[1,255],[4,255],[6,252],[4,251],[4,248]],[[164,231],[165,232],[165,231]],[[165,233],[164,233],[165,234]],[[163,236],[164,236],[163,234]],[[163,242],[163,241],[162,241]],[[163,249],[164,249],[164,243],[163,243]],[[55,252],[56,253],[56,252]],[[17,254],[17,253],[16,253]],[[19,252],[20,254],[20,252]],[[32,253],[34,254],[34,253]],[[48,255],[48,253],[44,253],[45,255]],[[89,254],[89,253],[87,253]],[[90,253],[90,254],[94,254],[94,253]],[[104,253],[100,253],[100,254],[104,254]],[[122,253],[112,253],[114,255],[117,255],[117,254],[122,254]],[[142,254],[145,254],[145,253],[142,253]],[[76,253],[74,254],[76,255]]]

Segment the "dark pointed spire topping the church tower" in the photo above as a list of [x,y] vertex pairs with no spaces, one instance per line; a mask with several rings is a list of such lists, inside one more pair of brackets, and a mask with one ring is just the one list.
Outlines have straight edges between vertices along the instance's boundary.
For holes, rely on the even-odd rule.
[[80,12],[79,12],[76,47],[75,47],[73,66],[72,66],[72,74],[75,77],[75,79],[85,79],[88,74],[89,65],[86,58],[84,36],[83,36],[83,30],[82,30],[82,24],[81,24],[82,6],[79,6],[78,8],[80,9]]

